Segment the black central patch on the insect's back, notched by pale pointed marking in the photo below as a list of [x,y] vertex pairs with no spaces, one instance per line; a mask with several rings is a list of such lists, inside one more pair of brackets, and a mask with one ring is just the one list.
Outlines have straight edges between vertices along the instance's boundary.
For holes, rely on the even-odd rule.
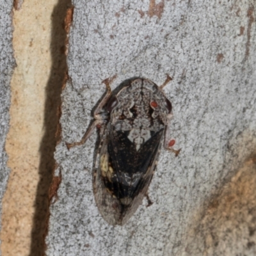
[[126,132],[111,132],[108,152],[115,175],[105,185],[113,191],[113,195],[117,198],[133,198],[140,192],[141,179],[144,179],[143,176],[157,154],[162,136],[163,129],[155,132],[137,151]]

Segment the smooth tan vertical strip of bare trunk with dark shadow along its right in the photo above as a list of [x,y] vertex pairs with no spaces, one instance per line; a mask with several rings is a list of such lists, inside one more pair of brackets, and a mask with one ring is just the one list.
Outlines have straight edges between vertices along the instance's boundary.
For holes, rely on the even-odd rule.
[[[64,8],[66,11],[67,1]],[[42,254],[48,189],[54,169],[56,95],[60,95],[56,90],[60,84],[61,91],[65,68],[59,58],[64,55],[62,45],[58,44],[59,40],[65,45],[65,40],[54,41],[58,31],[64,29],[64,19],[62,23],[58,21],[61,12],[57,0],[26,0],[19,11],[13,11],[17,67],[11,81],[10,131],[6,139],[11,173],[3,198],[1,252],[5,256]],[[52,125],[47,125],[50,121]],[[45,134],[52,135],[47,138]]]

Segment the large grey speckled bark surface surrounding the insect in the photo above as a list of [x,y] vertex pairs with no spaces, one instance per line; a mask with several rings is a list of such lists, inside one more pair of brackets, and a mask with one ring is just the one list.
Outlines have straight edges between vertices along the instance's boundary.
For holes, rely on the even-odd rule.
[[[256,254],[254,1],[74,1],[55,159],[48,256]],[[124,227],[95,206],[92,109],[117,74],[163,83],[179,157],[162,151],[143,202]],[[60,174],[61,173],[61,174]]]

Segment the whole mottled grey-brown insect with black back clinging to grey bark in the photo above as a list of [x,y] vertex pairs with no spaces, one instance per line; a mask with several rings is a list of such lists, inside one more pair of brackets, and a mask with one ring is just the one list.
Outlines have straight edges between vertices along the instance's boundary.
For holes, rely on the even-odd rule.
[[81,141],[82,145],[99,128],[100,143],[93,173],[93,193],[100,214],[111,225],[124,225],[147,196],[156,170],[162,141],[177,156],[175,141],[168,141],[172,104],[163,93],[172,78],[161,86],[148,79],[134,78],[112,93],[107,93],[94,112],[94,121]]

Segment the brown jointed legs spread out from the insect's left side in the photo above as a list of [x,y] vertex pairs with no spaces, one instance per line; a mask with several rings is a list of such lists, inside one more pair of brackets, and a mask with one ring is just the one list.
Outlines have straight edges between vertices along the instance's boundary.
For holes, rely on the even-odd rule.
[[74,143],[66,143],[68,149],[72,148],[74,146],[83,145],[85,143],[85,141],[90,137],[90,135],[92,134],[92,132],[95,129],[95,127],[101,129],[102,126],[106,125],[106,118],[107,118],[107,116],[104,115],[104,113],[102,113],[102,108],[104,107],[106,102],[108,102],[109,98],[111,97],[112,92],[111,92],[111,87],[110,87],[109,84],[111,83],[111,81],[113,81],[114,78],[115,77],[111,77],[111,78],[107,78],[107,79],[102,81],[102,83],[104,83],[106,85],[107,93],[103,97],[103,99],[100,101],[99,105],[97,106],[97,108],[95,109],[95,111],[93,113],[93,117],[94,117],[95,120],[90,125],[90,127],[88,127],[88,129],[85,132],[85,134],[84,134],[84,136],[83,136],[81,141],[74,142]]

